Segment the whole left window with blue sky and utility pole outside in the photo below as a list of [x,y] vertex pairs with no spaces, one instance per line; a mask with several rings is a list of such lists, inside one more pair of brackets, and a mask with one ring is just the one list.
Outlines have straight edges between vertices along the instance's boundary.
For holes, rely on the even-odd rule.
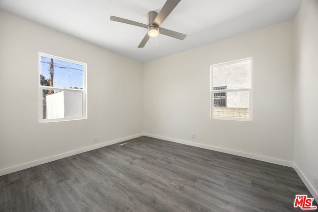
[[39,122],[85,119],[86,64],[39,53]]

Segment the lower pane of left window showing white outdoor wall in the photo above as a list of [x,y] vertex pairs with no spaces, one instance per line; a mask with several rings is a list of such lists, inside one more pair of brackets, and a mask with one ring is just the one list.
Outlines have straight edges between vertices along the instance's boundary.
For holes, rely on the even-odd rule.
[[83,92],[42,90],[43,119],[83,116]]

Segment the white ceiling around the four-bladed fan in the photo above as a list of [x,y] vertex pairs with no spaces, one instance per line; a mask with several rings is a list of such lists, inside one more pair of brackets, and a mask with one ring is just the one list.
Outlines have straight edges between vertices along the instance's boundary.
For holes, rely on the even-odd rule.
[[[293,19],[302,0],[181,0],[161,27],[164,35],[137,48],[147,29],[110,21],[111,15],[147,24],[166,0],[0,0],[0,9],[140,62],[193,49]],[[156,45],[157,43],[157,45]]]

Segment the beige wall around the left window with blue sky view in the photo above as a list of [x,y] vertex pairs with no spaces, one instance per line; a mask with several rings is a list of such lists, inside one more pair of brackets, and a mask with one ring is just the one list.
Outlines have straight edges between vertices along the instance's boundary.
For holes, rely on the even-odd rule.
[[[38,52],[87,64],[88,119],[38,123]],[[0,172],[142,133],[142,66],[0,10]]]

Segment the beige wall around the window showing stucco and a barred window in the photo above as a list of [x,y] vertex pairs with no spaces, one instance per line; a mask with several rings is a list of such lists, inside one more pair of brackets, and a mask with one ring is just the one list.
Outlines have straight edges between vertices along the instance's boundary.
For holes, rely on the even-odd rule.
[[[292,165],[292,45],[293,22],[287,21],[146,63],[144,132]],[[210,65],[249,57],[253,121],[210,119]]]

